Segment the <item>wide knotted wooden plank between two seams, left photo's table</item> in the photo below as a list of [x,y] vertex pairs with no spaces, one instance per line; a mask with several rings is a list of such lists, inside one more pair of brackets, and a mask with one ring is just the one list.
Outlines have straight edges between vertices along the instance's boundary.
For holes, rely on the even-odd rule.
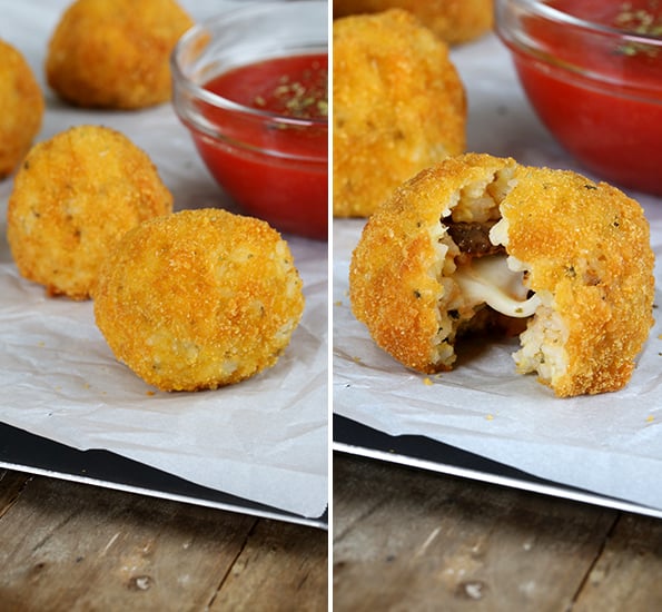
[[255,523],[34,477],[0,520],[3,610],[204,610]]

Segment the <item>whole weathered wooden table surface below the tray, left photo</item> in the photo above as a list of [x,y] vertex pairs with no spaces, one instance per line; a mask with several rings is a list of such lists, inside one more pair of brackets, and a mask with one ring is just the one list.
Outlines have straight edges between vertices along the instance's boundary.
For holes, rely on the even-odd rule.
[[0,610],[324,611],[324,530],[0,471]]

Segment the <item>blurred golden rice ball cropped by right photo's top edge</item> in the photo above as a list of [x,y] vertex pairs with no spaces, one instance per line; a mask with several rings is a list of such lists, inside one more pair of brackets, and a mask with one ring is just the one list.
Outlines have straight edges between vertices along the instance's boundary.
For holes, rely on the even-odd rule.
[[448,45],[460,45],[492,30],[493,3],[493,0],[334,0],[334,18],[405,9]]

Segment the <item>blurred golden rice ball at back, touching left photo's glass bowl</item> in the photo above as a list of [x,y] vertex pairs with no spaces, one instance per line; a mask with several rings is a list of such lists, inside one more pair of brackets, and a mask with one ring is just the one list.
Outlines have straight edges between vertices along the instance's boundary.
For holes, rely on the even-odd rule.
[[174,0],[76,0],[49,41],[48,83],[83,108],[165,102],[170,99],[170,53],[192,24]]

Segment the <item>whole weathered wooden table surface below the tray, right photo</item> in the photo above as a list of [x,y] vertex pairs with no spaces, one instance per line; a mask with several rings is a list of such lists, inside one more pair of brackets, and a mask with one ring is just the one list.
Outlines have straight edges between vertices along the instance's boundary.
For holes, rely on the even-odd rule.
[[662,521],[334,455],[336,611],[662,610]]

